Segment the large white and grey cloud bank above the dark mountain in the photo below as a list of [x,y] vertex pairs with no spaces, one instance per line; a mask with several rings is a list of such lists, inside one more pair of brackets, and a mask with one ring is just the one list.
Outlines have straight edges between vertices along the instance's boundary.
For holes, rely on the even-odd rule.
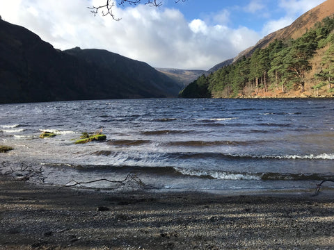
[[[260,39],[255,31],[212,25],[201,19],[187,22],[179,10],[145,5],[114,8],[111,17],[87,9],[96,3],[82,0],[0,1],[0,15],[40,35],[57,49],[106,49],[153,67],[209,69],[252,46]],[[27,11],[28,10],[28,11]],[[228,20],[228,12],[221,12]],[[225,15],[225,16],[224,16]]]

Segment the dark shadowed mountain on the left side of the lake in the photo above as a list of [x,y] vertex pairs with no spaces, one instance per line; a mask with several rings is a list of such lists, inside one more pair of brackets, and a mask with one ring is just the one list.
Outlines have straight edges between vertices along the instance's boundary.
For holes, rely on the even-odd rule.
[[56,50],[0,19],[0,103],[176,97],[179,91],[147,63],[105,50]]

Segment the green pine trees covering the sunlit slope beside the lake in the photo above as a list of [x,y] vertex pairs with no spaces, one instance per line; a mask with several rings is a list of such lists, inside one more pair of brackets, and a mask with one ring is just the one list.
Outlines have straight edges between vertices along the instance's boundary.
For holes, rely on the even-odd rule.
[[312,69],[310,60],[318,49],[328,47],[314,78],[319,88],[328,85],[334,92],[334,19],[326,17],[306,31],[301,38],[275,40],[264,49],[218,71],[202,75],[180,92],[180,97],[248,97],[257,92],[292,89],[305,91],[305,75]]

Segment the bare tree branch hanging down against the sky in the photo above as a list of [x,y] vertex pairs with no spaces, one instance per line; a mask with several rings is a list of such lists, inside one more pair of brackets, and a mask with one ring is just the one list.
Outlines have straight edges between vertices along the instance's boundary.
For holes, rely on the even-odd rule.
[[[116,3],[118,3],[119,5],[125,6],[125,4],[129,4],[129,5],[136,5],[138,3],[141,3],[141,0],[105,0],[106,4],[102,5],[102,6],[92,6],[92,7],[87,7],[90,9],[90,12],[92,12],[94,15],[97,15],[99,13],[99,11],[102,11],[102,16],[106,16],[106,15],[111,15],[111,17],[113,17],[114,20],[116,21],[120,21],[121,18],[117,18],[114,14],[113,14],[113,7],[115,7]],[[185,2],[186,0],[175,0],[175,3],[178,2]],[[148,4],[149,6],[152,7],[160,7],[162,5],[162,1],[159,0],[145,0],[145,4]]]

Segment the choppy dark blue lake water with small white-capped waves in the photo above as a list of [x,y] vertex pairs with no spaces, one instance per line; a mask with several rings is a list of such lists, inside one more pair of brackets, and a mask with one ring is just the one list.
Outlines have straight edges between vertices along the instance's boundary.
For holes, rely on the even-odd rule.
[[[15,148],[0,157],[42,165],[45,182],[58,185],[135,173],[157,189],[299,190],[334,178],[333,117],[333,99],[0,105],[0,144]],[[106,142],[74,144],[80,133],[100,128]],[[43,130],[58,135],[40,139]]]

